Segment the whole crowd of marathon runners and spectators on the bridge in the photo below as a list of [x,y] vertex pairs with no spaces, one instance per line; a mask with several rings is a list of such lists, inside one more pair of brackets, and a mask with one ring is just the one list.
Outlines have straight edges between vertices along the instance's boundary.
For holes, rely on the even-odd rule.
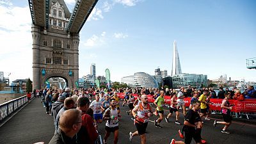
[[[180,129],[179,136],[184,141],[175,141],[171,143],[191,143],[192,138],[196,143],[206,143],[201,137],[201,131],[204,124],[203,120],[210,120],[209,115],[211,109],[211,99],[223,99],[221,104],[221,113],[224,121],[214,121],[214,127],[218,124],[225,125],[221,132],[230,134],[227,131],[228,126],[232,122],[230,110],[232,105],[229,99],[252,99],[255,98],[255,90],[253,86],[248,86],[248,90],[241,93],[236,88],[232,90],[223,90],[216,94],[213,88],[195,88],[181,87],[179,92],[168,88],[118,88],[111,89],[70,89],[53,90],[45,88],[44,90],[36,90],[36,96],[42,96],[42,103],[45,107],[45,113],[52,115],[55,132],[50,143],[95,143],[98,138],[97,127],[100,123],[105,122],[105,135],[103,143],[107,143],[111,132],[114,134],[114,143],[118,143],[118,118],[120,118],[120,98],[117,93],[125,93],[122,106],[129,106],[127,115],[131,115],[134,120],[136,131],[129,132],[129,140],[132,141],[134,136],[140,136],[141,143],[146,143],[145,131],[147,129],[149,117],[159,116],[154,120],[157,128],[162,128],[162,121],[169,123],[169,118],[175,113],[175,124],[181,125],[179,122],[179,109],[184,114],[184,126]],[[138,94],[138,99],[134,95]],[[152,106],[148,102],[148,96],[154,97],[153,105],[156,110],[153,111]],[[170,95],[169,113],[164,116],[164,95]],[[192,97],[189,109],[186,109],[184,98]],[[204,118],[204,119],[203,119]],[[128,132],[127,132],[128,133]]]

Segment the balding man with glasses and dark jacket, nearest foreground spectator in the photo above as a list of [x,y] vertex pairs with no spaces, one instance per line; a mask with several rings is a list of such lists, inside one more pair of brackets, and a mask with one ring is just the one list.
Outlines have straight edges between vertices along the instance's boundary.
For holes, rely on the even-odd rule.
[[81,111],[68,109],[60,116],[60,129],[54,134],[49,144],[75,144],[73,138],[81,128]]

